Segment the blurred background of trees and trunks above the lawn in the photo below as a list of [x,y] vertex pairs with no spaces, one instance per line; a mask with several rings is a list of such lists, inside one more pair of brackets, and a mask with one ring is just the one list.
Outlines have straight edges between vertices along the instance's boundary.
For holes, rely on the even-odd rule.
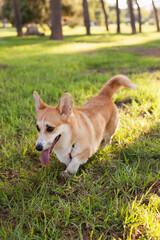
[[55,40],[62,40],[65,32],[159,31],[159,18],[159,0],[0,1],[0,28],[15,28],[18,36],[50,35]]

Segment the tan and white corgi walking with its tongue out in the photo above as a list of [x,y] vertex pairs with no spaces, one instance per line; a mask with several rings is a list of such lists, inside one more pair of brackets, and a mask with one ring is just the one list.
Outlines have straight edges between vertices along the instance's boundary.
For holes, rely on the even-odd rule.
[[36,149],[41,163],[48,164],[52,151],[66,165],[62,175],[74,174],[100,146],[111,142],[118,126],[118,109],[112,96],[121,86],[137,88],[128,77],[117,75],[100,90],[98,96],[75,108],[70,93],[64,93],[56,107],[45,104],[33,93],[36,105],[36,127],[39,137]]

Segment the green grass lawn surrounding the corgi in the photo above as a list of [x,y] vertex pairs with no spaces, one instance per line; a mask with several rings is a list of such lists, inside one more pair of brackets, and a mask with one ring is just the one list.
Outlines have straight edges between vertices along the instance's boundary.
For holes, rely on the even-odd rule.
[[[159,51],[160,33],[76,31],[63,42],[2,32],[0,239],[158,239],[160,58],[141,50]],[[33,91],[54,106],[67,91],[82,106],[119,73],[139,88],[114,95],[121,117],[111,146],[68,180],[54,154],[42,166]]]

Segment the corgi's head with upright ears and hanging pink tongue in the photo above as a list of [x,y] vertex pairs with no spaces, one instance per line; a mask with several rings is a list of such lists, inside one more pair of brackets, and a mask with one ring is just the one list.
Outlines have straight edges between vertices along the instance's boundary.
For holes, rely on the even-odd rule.
[[57,107],[45,104],[37,92],[33,93],[36,105],[36,127],[39,137],[36,149],[42,151],[41,162],[49,163],[49,154],[59,144],[66,144],[70,139],[70,123],[74,117],[73,99],[65,93],[59,100]]

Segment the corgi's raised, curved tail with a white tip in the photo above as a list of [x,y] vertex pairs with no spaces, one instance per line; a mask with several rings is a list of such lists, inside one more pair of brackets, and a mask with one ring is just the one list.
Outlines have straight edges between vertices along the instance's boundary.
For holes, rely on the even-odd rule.
[[106,95],[112,97],[122,86],[127,88],[137,88],[136,84],[133,84],[128,77],[124,75],[116,75],[111,78],[101,89],[99,95]]

